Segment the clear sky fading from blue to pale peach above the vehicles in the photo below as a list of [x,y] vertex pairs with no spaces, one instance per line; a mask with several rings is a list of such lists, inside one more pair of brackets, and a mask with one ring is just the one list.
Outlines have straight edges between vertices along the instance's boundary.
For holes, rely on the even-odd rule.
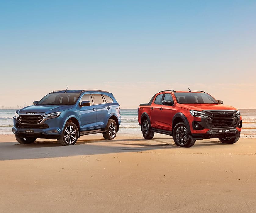
[[256,108],[256,1],[0,1],[0,105],[103,89],[137,108],[165,89]]

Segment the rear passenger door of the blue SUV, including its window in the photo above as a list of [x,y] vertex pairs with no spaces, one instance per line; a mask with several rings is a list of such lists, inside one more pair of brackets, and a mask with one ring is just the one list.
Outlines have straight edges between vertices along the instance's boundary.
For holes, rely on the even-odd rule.
[[97,109],[97,128],[105,128],[111,115],[111,103],[106,103],[102,94],[92,94]]

